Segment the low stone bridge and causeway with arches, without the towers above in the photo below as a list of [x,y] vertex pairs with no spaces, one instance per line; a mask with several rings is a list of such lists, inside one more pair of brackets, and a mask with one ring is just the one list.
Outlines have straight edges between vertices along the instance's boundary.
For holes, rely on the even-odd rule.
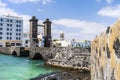
[[46,60],[52,66],[90,70],[90,49],[85,48],[36,47],[30,54],[24,47],[0,47],[0,53]]

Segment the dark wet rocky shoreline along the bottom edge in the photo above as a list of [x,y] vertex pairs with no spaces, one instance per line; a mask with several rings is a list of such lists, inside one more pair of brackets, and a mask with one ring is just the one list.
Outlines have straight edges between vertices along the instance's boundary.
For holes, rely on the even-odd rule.
[[[70,70],[70,69],[69,69]],[[90,80],[90,72],[85,70],[61,70],[39,75],[30,80]]]

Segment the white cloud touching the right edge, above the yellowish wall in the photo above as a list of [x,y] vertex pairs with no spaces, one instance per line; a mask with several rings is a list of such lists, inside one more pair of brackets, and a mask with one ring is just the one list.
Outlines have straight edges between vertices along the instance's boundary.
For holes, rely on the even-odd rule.
[[102,8],[100,11],[98,11],[98,14],[101,16],[109,16],[109,17],[120,17],[120,5],[117,6],[108,6]]

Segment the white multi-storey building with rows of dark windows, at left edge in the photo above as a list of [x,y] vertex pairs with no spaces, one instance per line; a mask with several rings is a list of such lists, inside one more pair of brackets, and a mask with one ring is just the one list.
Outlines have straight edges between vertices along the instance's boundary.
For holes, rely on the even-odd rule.
[[0,16],[0,46],[21,46],[23,19],[15,16]]

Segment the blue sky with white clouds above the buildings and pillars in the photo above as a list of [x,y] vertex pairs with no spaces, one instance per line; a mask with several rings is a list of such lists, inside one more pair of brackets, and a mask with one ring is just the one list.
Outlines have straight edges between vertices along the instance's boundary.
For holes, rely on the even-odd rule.
[[53,39],[63,31],[66,40],[93,40],[119,19],[120,0],[0,0],[0,15],[8,14],[23,17],[24,32],[36,16],[39,24],[52,21]]

